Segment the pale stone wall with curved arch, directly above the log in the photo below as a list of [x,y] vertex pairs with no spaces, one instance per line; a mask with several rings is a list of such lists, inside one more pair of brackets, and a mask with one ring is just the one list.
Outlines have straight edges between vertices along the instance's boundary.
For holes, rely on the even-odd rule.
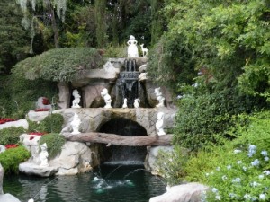
[[148,136],[157,135],[156,122],[157,113],[162,111],[165,113],[164,128],[165,130],[174,127],[174,119],[176,109],[174,108],[139,108],[139,109],[121,109],[121,108],[80,108],[80,109],[65,109],[55,110],[54,113],[60,113],[64,119],[65,124],[62,132],[72,132],[70,122],[76,113],[81,119],[80,132],[98,132],[99,129],[106,122],[111,119],[130,119],[137,122],[141,127],[147,130]]

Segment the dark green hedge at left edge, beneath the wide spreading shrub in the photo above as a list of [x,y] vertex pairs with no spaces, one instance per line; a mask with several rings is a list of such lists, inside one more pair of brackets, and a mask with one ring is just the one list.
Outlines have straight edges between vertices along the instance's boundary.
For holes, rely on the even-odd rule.
[[[22,72],[23,74],[23,72]],[[1,80],[2,81],[2,80]],[[4,76],[0,83],[1,98],[0,112],[3,117],[24,119],[29,110],[35,109],[35,102],[39,97],[48,97],[51,100],[58,94],[57,84],[42,79],[26,80],[24,75],[12,74]]]

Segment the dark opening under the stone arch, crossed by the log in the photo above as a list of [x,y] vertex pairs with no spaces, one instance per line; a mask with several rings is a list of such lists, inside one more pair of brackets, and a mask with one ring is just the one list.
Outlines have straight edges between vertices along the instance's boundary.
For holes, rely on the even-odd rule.
[[[121,136],[147,136],[147,130],[130,119],[115,118],[100,127],[99,132]],[[102,162],[144,162],[146,146],[102,145]]]

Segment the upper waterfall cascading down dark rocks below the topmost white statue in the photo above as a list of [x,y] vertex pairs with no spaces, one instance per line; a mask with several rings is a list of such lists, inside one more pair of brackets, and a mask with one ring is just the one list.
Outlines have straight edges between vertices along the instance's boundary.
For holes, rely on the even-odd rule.
[[139,72],[136,69],[135,59],[125,60],[125,71],[120,73],[116,86],[117,94],[120,95],[120,103],[126,98],[128,107],[133,108],[133,102],[136,98],[139,98],[140,92]]

